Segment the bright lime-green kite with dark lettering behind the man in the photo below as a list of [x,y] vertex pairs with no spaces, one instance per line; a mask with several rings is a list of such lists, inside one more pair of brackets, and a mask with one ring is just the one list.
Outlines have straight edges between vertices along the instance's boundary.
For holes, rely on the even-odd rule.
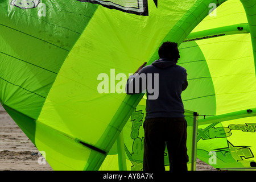
[[127,169],[140,170],[145,100],[123,84],[177,42],[197,158],[253,169],[255,12],[254,0],[0,0],[0,102],[55,170],[118,169],[122,130]]

